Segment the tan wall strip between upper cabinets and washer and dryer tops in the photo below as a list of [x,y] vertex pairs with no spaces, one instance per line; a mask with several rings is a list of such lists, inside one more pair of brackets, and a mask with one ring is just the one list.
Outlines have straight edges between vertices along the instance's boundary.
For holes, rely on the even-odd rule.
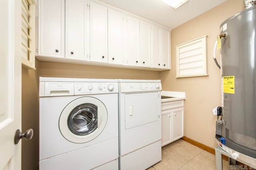
[[40,62],[39,76],[66,78],[160,79],[159,71]]

